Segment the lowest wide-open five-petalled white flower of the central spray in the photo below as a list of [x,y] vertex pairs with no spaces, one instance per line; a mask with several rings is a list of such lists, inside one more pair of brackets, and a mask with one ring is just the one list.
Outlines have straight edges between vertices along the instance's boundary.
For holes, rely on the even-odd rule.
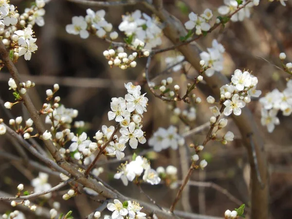
[[135,129],[134,122],[131,122],[128,128],[121,128],[120,133],[122,136],[120,137],[119,141],[126,144],[129,140],[129,145],[133,149],[137,148],[138,141],[141,144],[146,143],[146,139],[143,136],[144,132],[140,128]]

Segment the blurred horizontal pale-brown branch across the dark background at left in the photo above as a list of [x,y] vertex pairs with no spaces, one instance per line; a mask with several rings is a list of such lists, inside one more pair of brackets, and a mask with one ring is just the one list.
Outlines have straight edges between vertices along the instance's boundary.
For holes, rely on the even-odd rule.
[[[8,81],[11,76],[8,73],[0,73],[0,81]],[[83,77],[58,77],[46,75],[21,75],[23,80],[31,80],[38,85],[54,85],[59,84],[67,87],[79,88],[109,88],[113,84],[117,84],[115,88],[124,89],[124,80],[116,80],[115,83],[110,79],[104,78],[83,78]],[[133,82],[133,81],[129,81]],[[133,82],[134,83],[134,82]]]

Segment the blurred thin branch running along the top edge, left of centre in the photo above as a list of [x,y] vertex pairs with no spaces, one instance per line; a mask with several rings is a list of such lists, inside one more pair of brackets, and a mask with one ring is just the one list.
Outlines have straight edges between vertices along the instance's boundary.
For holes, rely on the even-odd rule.
[[[88,6],[125,6],[125,5],[133,5],[137,4],[144,0],[120,0],[120,1],[94,1],[94,0],[67,0],[74,3],[84,4]],[[146,0],[145,0],[146,1]]]

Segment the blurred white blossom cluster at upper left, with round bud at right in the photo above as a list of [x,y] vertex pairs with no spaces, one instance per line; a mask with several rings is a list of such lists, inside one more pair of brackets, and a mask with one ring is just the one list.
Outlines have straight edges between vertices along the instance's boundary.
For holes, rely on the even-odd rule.
[[[83,16],[74,16],[72,18],[72,24],[66,26],[68,34],[79,35],[81,38],[86,39],[91,33],[99,38],[104,38],[107,32],[112,31],[112,24],[105,19],[105,10],[94,12],[89,8],[86,13],[85,18]],[[110,33],[111,39],[116,39],[117,37],[117,32]]]

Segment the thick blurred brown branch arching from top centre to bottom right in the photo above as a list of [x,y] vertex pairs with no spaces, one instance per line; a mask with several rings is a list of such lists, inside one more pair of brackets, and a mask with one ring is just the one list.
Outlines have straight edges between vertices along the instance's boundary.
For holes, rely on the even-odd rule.
[[[250,1],[247,1],[250,2]],[[199,54],[202,50],[199,46],[193,42],[190,44],[190,41],[185,43],[180,43],[180,37],[184,37],[187,34],[182,22],[170,15],[165,9],[157,10],[150,4],[144,3],[144,5],[156,14],[160,20],[165,23],[164,35],[169,38],[174,46],[162,50],[153,50],[152,54],[159,52],[169,51],[175,48],[178,48],[186,60],[197,70],[200,71],[200,56]],[[194,39],[191,39],[194,41]],[[229,83],[229,80],[226,76],[221,73],[215,73],[212,77],[204,77],[204,80],[208,86],[212,89],[214,94],[219,95],[219,88],[225,84]],[[268,209],[269,209],[269,188],[268,188],[268,164],[266,153],[263,148],[263,139],[259,129],[257,128],[256,122],[253,119],[253,115],[248,108],[243,108],[240,116],[233,116],[237,127],[239,128],[243,142],[248,150],[249,161],[251,165],[251,218],[256,219],[267,219],[268,218]],[[257,171],[254,167],[254,159],[252,155],[252,147],[250,144],[250,134],[252,135],[253,143],[256,150],[258,169],[261,174],[262,182],[265,184],[265,187],[262,188],[261,183],[257,179]]]

